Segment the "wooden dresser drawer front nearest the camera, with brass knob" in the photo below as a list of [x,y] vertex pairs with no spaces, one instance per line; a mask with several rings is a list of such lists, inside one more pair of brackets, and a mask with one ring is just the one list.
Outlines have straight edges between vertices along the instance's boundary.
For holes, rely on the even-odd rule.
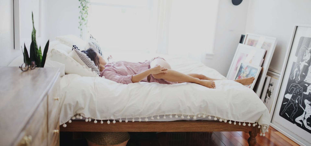
[[47,143],[47,98],[40,103],[18,136],[17,146],[46,146]]

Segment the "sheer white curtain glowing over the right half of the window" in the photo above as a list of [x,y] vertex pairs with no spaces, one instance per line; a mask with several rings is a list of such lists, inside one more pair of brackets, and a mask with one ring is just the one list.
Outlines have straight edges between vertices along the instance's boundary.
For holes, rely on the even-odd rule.
[[218,0],[159,0],[157,53],[201,61],[213,53]]

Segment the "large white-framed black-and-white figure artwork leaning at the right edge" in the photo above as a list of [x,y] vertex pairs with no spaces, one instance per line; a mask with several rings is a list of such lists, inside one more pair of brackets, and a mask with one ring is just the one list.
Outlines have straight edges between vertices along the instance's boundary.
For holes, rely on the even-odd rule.
[[311,145],[311,25],[294,26],[280,80],[272,127]]

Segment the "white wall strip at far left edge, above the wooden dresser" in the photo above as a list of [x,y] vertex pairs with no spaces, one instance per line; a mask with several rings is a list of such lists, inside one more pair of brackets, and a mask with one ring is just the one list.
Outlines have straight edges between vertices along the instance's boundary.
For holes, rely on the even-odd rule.
[[21,50],[14,50],[13,1],[0,0],[0,66],[8,65]]

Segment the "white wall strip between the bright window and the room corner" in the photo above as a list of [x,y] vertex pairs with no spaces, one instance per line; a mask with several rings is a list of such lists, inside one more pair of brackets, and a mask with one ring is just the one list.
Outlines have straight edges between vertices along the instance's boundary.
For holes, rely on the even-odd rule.
[[202,62],[226,76],[245,25],[248,0],[234,6],[231,0],[219,0],[214,56]]

